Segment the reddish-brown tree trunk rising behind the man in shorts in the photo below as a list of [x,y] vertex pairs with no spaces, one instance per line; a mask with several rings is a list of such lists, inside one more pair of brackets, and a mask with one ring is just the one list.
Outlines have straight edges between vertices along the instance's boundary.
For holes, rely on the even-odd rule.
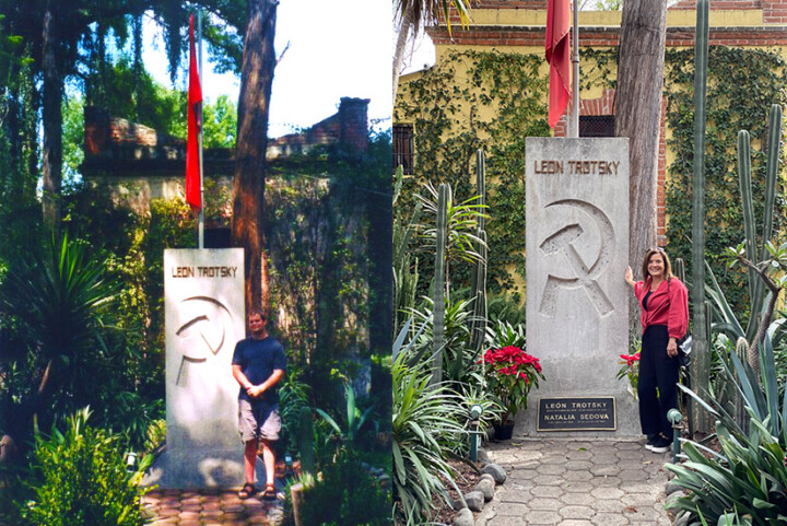
[[265,178],[268,114],[275,68],[275,0],[249,0],[244,38],[233,182],[232,241],[246,259],[246,308],[268,309]]

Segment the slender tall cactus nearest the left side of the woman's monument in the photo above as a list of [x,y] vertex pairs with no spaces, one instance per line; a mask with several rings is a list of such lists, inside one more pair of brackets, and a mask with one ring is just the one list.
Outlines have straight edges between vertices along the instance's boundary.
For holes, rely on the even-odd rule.
[[[479,196],[478,204],[485,207],[486,204],[486,159],[483,150],[475,152],[475,191]],[[477,234],[480,242],[477,242],[475,252],[481,256],[475,261],[475,272],[472,276],[471,297],[473,301],[473,319],[472,319],[472,348],[478,355],[481,353],[484,339],[486,336],[486,231],[484,208],[480,209],[478,214]]]

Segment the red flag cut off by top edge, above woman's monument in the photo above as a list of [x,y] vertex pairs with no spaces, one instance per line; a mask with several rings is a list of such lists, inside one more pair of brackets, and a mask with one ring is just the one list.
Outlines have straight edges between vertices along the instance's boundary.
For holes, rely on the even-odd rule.
[[[576,1],[576,0],[575,0]],[[550,63],[551,128],[560,120],[571,96],[568,27],[571,1],[549,0],[547,5],[547,61]]]

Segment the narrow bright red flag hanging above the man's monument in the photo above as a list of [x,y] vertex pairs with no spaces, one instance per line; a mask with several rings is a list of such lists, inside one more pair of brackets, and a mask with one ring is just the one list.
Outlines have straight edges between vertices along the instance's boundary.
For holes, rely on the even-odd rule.
[[197,71],[197,54],[193,43],[193,14],[189,17],[189,96],[188,96],[188,139],[186,141],[186,202],[192,210],[202,208],[200,197],[199,143],[197,138],[202,126],[202,89]]

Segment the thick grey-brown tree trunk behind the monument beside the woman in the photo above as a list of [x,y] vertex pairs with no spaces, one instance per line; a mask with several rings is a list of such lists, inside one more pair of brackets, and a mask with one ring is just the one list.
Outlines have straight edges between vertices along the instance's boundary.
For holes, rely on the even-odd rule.
[[[666,38],[665,0],[623,2],[615,136],[629,138],[629,262],[635,269],[639,268],[645,252],[657,242],[656,189]],[[637,308],[632,308],[630,316],[634,334],[639,331]]]

